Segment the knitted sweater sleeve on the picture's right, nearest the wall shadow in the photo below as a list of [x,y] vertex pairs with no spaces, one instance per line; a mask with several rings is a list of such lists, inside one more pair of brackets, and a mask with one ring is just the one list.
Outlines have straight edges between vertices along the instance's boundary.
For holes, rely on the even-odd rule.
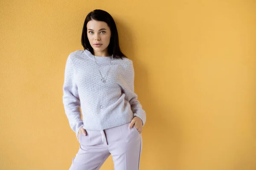
[[146,113],[143,110],[141,103],[137,99],[137,94],[134,92],[134,66],[132,60],[130,60],[129,64],[125,68],[123,77],[125,79],[125,100],[130,103],[131,110],[134,113],[134,116],[139,117],[142,120],[144,126],[146,122]]

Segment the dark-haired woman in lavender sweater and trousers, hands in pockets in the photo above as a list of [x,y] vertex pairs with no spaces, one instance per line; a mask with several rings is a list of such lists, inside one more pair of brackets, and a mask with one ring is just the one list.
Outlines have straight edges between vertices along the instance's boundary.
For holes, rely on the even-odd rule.
[[134,93],[133,62],[122,54],[108,12],[87,15],[81,44],[84,50],[67,57],[63,85],[65,113],[80,143],[70,170],[99,170],[110,154],[115,170],[138,170],[146,115]]

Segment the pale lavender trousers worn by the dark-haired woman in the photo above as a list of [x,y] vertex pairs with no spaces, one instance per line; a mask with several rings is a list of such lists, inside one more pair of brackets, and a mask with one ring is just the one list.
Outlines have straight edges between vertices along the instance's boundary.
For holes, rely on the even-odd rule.
[[139,170],[142,136],[135,126],[128,129],[129,124],[79,134],[79,150],[69,170],[99,170],[110,154],[114,170]]

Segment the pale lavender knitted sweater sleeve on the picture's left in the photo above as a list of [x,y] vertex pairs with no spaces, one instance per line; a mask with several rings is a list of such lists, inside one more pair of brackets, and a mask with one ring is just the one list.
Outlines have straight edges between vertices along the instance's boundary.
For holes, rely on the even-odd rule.
[[80,99],[77,91],[77,85],[74,79],[75,70],[71,58],[71,54],[67,57],[64,73],[63,85],[63,104],[71,129],[78,135],[79,128],[83,126],[81,120]]

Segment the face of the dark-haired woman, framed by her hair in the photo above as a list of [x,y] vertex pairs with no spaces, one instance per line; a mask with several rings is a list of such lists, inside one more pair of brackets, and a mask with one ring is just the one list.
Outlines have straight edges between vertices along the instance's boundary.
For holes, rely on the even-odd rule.
[[[108,55],[111,31],[104,21],[90,20],[87,23],[87,37],[95,55]],[[99,44],[99,45],[96,45]]]

